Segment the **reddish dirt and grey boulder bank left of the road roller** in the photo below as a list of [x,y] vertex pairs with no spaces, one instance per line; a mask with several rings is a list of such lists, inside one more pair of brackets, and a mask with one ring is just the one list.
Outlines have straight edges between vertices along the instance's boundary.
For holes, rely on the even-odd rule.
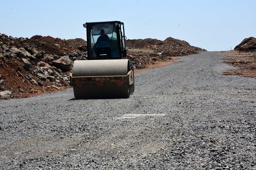
[[73,61],[85,60],[85,49],[82,39],[0,34],[0,99],[68,88]]

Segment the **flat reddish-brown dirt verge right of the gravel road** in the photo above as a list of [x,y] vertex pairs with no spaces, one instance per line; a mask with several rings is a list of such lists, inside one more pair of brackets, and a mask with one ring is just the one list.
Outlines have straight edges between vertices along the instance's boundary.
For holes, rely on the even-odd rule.
[[225,75],[237,75],[244,77],[256,77],[256,52],[223,51],[226,55],[224,60],[236,67],[232,70],[223,71]]

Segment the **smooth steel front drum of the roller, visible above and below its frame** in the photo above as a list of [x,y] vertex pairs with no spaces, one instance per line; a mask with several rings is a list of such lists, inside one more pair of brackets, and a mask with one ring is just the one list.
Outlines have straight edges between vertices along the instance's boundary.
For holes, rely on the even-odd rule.
[[[126,76],[131,70],[131,64],[132,62],[128,59],[77,60],[73,64],[73,77]],[[130,90],[131,87],[133,87],[132,90]],[[134,91],[134,84],[129,85],[125,82],[120,86],[115,82],[104,82],[99,86],[95,82],[88,82],[82,86],[74,84],[73,90],[76,99],[129,98]]]

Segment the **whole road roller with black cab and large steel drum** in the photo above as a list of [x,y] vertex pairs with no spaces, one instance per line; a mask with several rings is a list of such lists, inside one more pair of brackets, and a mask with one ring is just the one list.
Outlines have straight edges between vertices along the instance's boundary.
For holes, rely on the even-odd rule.
[[76,99],[129,98],[134,92],[134,68],[127,59],[124,23],[83,24],[87,60],[75,60],[70,85]]

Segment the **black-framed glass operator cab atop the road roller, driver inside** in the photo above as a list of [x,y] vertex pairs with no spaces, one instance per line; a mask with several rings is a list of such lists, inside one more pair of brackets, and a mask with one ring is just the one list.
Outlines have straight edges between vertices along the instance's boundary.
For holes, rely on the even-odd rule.
[[83,25],[87,29],[88,60],[126,57],[124,23],[109,21]]

